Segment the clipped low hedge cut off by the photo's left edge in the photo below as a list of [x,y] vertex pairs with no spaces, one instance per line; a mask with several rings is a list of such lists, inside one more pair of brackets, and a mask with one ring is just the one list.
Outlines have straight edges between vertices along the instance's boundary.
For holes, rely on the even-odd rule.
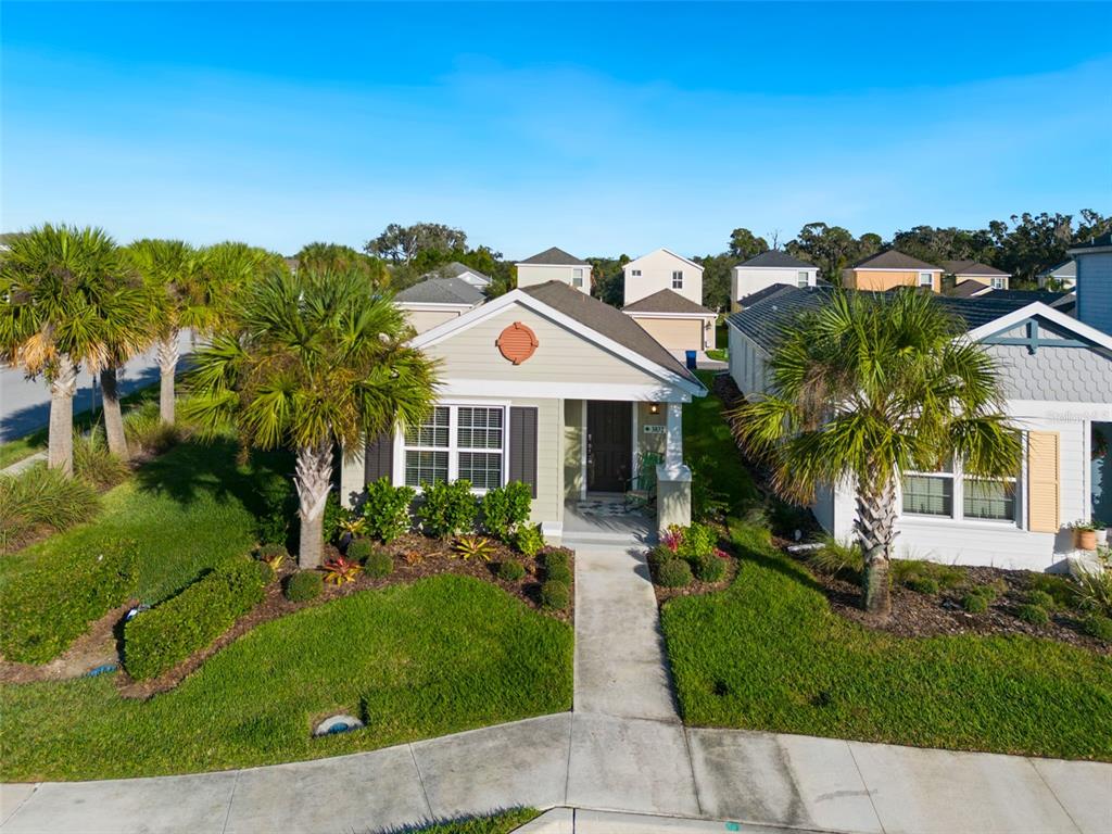
[[100,542],[10,576],[0,593],[4,657],[47,663],[64,652],[89,623],[135,593],[137,553],[131,539]]

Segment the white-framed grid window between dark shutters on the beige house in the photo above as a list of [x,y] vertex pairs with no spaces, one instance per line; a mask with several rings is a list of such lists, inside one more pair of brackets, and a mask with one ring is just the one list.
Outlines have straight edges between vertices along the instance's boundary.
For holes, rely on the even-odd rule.
[[502,486],[504,437],[502,407],[437,406],[406,433],[406,485],[466,478],[476,489]]

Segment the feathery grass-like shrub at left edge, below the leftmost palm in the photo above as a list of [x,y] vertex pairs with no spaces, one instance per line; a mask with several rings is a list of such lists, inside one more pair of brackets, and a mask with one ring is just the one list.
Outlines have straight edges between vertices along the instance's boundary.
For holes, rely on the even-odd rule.
[[58,469],[37,465],[0,476],[0,553],[19,549],[40,527],[64,530],[88,522],[99,509],[100,497],[91,485]]

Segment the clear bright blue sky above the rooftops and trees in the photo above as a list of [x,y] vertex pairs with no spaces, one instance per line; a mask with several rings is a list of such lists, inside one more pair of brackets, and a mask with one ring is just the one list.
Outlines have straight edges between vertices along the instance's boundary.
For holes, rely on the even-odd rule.
[[1112,211],[1112,6],[2,7],[3,230],[509,257]]

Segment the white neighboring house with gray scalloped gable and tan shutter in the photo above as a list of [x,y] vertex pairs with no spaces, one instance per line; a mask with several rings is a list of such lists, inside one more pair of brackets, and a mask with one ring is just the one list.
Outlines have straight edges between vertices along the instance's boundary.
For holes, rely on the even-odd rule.
[[[1089,519],[1112,492],[1112,459],[1092,463],[1098,434],[1112,433],[1112,337],[1042,301],[990,292],[941,297],[961,317],[964,338],[987,346],[1000,367],[1005,411],[1023,431],[1023,461],[1012,478],[965,478],[960,461],[944,471],[907,474],[900,485],[897,554],[962,565],[1046,570],[1072,550],[1073,520]],[[767,386],[778,327],[826,301],[823,289],[785,287],[731,316],[729,370],[747,397]],[[851,485],[820,494],[820,524],[853,537]],[[1112,518],[1104,516],[1105,522]]]

